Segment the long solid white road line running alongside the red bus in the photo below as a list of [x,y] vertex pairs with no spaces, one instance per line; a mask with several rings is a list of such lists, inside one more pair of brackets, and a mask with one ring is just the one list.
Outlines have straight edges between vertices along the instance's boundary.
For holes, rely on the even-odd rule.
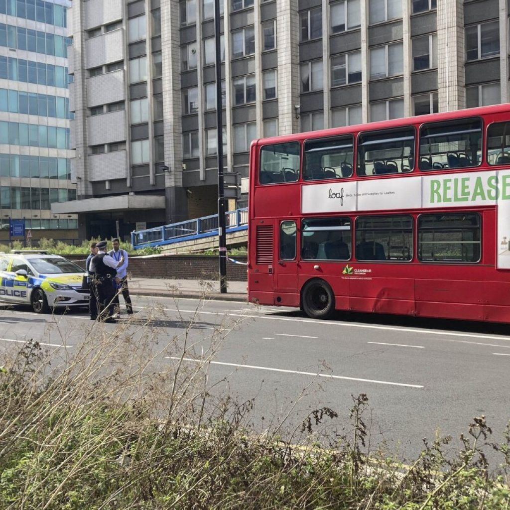
[[[140,310],[143,310],[141,307],[135,307],[139,308]],[[164,308],[165,312],[180,312],[180,313],[191,313],[191,314],[206,314],[206,315],[225,315],[221,312],[206,312],[203,310],[177,310],[173,308]],[[246,314],[228,314],[232,317],[247,317]],[[346,327],[360,327],[365,329],[384,329],[388,331],[400,331],[401,333],[425,333],[429,335],[439,335],[439,336],[445,336],[445,337],[465,337],[465,338],[487,338],[490,340],[499,340],[503,342],[510,342],[510,338],[507,337],[501,337],[496,335],[477,335],[474,333],[454,333],[453,331],[437,331],[436,329],[423,329],[423,328],[411,328],[411,327],[394,327],[394,326],[376,326],[373,324],[357,324],[353,322],[342,322],[342,321],[327,321],[327,320],[316,320],[316,319],[294,319],[292,317],[269,317],[266,315],[258,315],[257,317],[254,317],[257,319],[267,319],[267,320],[279,320],[279,321],[291,321],[291,322],[307,322],[310,324],[324,324],[329,326],[337,326],[342,325]],[[449,342],[463,342],[462,340],[449,340]],[[476,342],[468,342],[468,343],[474,343],[475,345],[490,345],[490,344],[478,344]],[[502,346],[505,347],[505,346]]]

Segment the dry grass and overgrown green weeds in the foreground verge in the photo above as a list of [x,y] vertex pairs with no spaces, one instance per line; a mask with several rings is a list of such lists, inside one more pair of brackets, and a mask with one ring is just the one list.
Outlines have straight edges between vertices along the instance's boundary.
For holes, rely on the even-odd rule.
[[[0,362],[0,508],[509,507],[510,428],[503,444],[491,445],[490,427],[475,418],[456,454],[445,453],[451,438],[437,439],[404,466],[369,455],[362,394],[350,410],[318,409],[289,430],[294,407],[261,433],[251,426],[257,398],[236,403],[208,377],[236,324],[205,338],[196,315],[179,317],[182,335],[168,339],[156,327],[164,312],[151,313],[114,334],[101,325],[82,331],[80,346],[58,351],[72,355],[31,341]],[[321,425],[341,412],[350,430],[322,436]],[[497,471],[487,448],[500,455]]]

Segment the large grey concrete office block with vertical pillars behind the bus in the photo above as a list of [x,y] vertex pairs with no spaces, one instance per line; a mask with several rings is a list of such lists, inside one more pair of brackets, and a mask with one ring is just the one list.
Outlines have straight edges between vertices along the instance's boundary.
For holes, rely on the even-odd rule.
[[[222,0],[227,170],[247,177],[258,137],[508,101],[508,4]],[[216,212],[213,17],[214,0],[68,11],[78,200],[55,210],[81,235]]]

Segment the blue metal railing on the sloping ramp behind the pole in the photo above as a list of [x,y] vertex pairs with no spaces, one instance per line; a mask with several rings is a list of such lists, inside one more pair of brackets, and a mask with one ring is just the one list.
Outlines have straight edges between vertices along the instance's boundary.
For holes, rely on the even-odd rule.
[[[227,234],[248,228],[248,208],[236,209],[225,213]],[[131,244],[135,249],[149,246],[192,241],[203,237],[218,235],[218,215],[202,216],[179,223],[147,228],[131,233]]]

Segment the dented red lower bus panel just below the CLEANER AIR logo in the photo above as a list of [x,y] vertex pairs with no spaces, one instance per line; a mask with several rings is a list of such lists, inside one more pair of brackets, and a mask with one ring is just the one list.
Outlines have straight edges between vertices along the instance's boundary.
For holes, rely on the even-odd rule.
[[351,310],[414,315],[413,278],[354,277],[350,285]]

